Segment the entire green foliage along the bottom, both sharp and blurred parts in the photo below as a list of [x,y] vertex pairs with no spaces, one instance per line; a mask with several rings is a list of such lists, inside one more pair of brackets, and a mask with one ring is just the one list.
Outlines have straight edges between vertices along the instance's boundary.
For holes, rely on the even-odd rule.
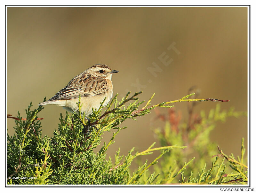
[[[65,117],[60,114],[58,130],[53,132],[51,138],[42,137],[41,134],[41,122],[37,114],[43,107],[39,106],[31,111],[32,103],[30,103],[26,110],[27,117],[25,120],[18,112],[18,119],[15,120],[16,127],[14,127],[16,134],[7,136],[7,183],[168,184],[179,183],[180,179],[180,183],[220,184],[227,183],[227,181],[224,181],[226,178],[232,178],[233,181],[229,181],[230,183],[246,183],[247,166],[243,164],[244,148],[242,148],[241,158],[238,157],[238,161],[232,156],[227,157],[220,151],[216,155],[217,158],[212,164],[212,168],[205,171],[205,163],[209,160],[209,156],[214,155],[213,152],[215,152],[209,140],[209,133],[217,120],[223,121],[228,116],[239,115],[234,111],[225,114],[217,111],[217,109],[210,112],[207,118],[202,112],[199,122],[194,121],[193,124],[189,125],[180,124],[179,130],[173,129],[172,122],[169,121],[163,129],[154,130],[162,147],[154,148],[155,143],[153,143],[142,152],[134,152],[134,148],[132,148],[126,156],[120,155],[120,149],[118,149],[114,159],[106,158],[106,151],[114,143],[114,138],[122,129],[126,128],[119,127],[123,121],[143,116],[156,107],[173,107],[166,104],[208,100],[186,99],[193,95],[191,94],[176,101],[149,106],[153,95],[146,105],[138,110],[140,104],[144,103],[144,101],[139,102],[137,98],[140,93],[135,93],[132,96],[128,93],[120,102],[117,101],[116,95],[107,105],[104,113],[102,113],[102,105],[99,109],[93,109],[92,115],[89,116],[91,123],[88,127],[88,122],[80,111],[83,104],[80,103],[79,98],[77,103],[79,113],[66,113]],[[86,130],[88,130],[87,133],[84,132]],[[104,142],[100,151],[95,152],[94,149],[100,145],[102,140],[101,135],[106,131],[115,132],[110,141]],[[199,158],[196,162],[195,158],[188,162],[184,161],[190,156],[191,151],[189,150],[192,148],[199,155]],[[161,153],[152,162],[148,163],[146,160],[140,164],[136,171],[132,172],[130,170],[131,163],[135,158],[152,154],[153,151],[161,151]],[[232,162],[232,168],[236,173],[225,173],[224,159],[220,164],[217,164],[218,158],[221,156],[230,163]],[[159,160],[160,163],[158,163]],[[185,164],[181,164],[184,162]],[[201,170],[202,164],[204,165],[203,170]],[[152,166],[154,171],[150,173],[149,167]],[[185,170],[186,168],[187,170]],[[188,169],[193,172],[186,173]],[[201,171],[198,174],[199,177],[193,177],[196,171]],[[213,176],[214,174],[215,176]]]

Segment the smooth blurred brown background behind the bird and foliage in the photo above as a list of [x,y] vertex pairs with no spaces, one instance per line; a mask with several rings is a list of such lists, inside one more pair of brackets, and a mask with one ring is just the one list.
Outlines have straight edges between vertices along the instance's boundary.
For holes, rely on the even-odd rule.
[[[25,117],[31,101],[37,108],[44,96],[51,98],[97,63],[119,71],[112,77],[119,99],[128,91],[143,90],[140,99],[147,101],[156,92],[151,104],[157,104],[180,99],[196,86],[198,98],[229,99],[221,109],[247,111],[247,8],[9,7],[7,53],[7,112],[15,117],[17,111]],[[187,121],[187,103],[174,105]],[[208,113],[215,106],[201,102],[195,112]],[[168,113],[166,108],[158,111]],[[46,105],[38,114],[44,117],[43,136],[53,136],[60,112],[65,114],[62,107]],[[155,118],[152,111],[137,121],[126,120],[128,128],[116,136],[108,155],[118,147],[125,155],[132,147],[147,149],[156,141],[152,128],[164,126]],[[8,119],[10,135],[14,126]],[[102,141],[112,135],[104,134]],[[234,155],[240,155],[241,137],[247,149],[247,117],[218,123],[211,136],[226,154]]]

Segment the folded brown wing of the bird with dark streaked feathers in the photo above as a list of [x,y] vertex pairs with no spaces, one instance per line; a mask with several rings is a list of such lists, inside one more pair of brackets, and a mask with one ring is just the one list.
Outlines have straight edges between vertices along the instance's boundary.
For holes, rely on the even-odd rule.
[[106,80],[92,77],[90,74],[81,73],[48,101],[76,99],[79,95],[81,97],[102,95],[107,90],[108,83]]

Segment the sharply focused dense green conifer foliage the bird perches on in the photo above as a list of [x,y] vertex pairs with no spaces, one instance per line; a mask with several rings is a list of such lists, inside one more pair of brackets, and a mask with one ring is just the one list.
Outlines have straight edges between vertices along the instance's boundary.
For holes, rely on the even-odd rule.
[[[137,111],[140,104],[135,93],[129,97],[128,93],[120,102],[117,96],[107,106],[107,110],[101,114],[102,105],[94,109],[89,117],[91,127],[89,133],[83,133],[85,117],[80,112],[80,98],[78,102],[79,114],[66,114],[65,118],[60,114],[58,131],[54,131],[53,137],[42,137],[41,123],[37,113],[43,107],[31,111],[32,103],[26,110],[26,120],[20,117],[15,120],[16,127],[13,136],[7,136],[8,145],[8,184],[137,184],[147,168],[157,162],[164,153],[172,148],[184,148],[168,146],[152,148],[152,144],[143,152],[133,153],[133,149],[127,156],[120,156],[120,150],[116,152],[115,160],[106,158],[109,145],[114,143],[115,136],[125,127],[118,127],[124,120],[147,114],[155,107]],[[45,101],[45,99],[44,99]],[[125,106],[128,101],[132,101]],[[104,101],[103,101],[104,102]],[[102,104],[103,104],[102,102]],[[149,102],[148,102],[149,104]],[[148,105],[147,104],[147,105]],[[114,107],[112,110],[111,107]],[[136,112],[136,113],[134,113]],[[105,131],[115,129],[113,137],[108,143],[104,143],[100,151],[95,153],[93,149],[100,145],[101,135]],[[145,163],[134,174],[130,174],[129,167],[134,158],[147,155],[152,151],[161,150],[162,153],[152,163]],[[25,178],[25,179],[24,179]],[[151,177],[148,181],[153,182]]]

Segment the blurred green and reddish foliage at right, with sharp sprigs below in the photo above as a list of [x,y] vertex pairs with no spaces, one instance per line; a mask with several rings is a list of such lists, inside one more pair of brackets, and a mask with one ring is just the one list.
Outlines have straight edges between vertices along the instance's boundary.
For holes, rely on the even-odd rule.
[[[227,156],[220,149],[218,153],[217,144],[210,140],[211,131],[217,121],[224,122],[228,117],[239,117],[246,113],[235,112],[233,108],[228,112],[220,111],[219,104],[207,116],[204,111],[201,111],[200,116],[193,113],[192,108],[189,108],[189,112],[189,121],[184,123],[180,123],[180,114],[174,110],[170,110],[168,116],[158,115],[165,122],[165,127],[153,131],[161,145],[186,145],[187,148],[175,149],[161,158],[160,163],[154,166],[154,171],[159,173],[156,183],[247,184],[247,166],[243,164],[244,138],[242,138],[241,158],[238,156],[238,161],[233,154]],[[220,160],[220,157],[223,159]],[[189,159],[191,159],[189,163],[186,163]],[[228,162],[231,164],[230,167],[226,165]],[[207,170],[209,165],[211,167]],[[142,184],[146,182],[144,179],[148,176],[145,174],[141,178]]]

